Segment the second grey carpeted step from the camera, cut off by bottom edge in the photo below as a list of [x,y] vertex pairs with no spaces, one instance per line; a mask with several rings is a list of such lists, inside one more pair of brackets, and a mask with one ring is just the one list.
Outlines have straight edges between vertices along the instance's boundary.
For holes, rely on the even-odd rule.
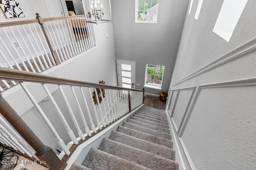
[[149,170],[134,162],[94,148],[90,149],[82,165],[92,170]]

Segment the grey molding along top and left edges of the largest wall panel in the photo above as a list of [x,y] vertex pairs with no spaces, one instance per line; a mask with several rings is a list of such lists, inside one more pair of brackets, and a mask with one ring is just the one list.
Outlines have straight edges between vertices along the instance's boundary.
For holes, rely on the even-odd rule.
[[247,78],[247,79],[241,79],[241,80],[233,80],[233,81],[227,81],[227,82],[218,82],[213,84],[205,84],[200,85],[196,91],[196,94],[192,100],[192,104],[189,108],[189,111],[186,115],[184,115],[184,122],[181,124],[181,127],[179,129],[179,137],[182,137],[182,133],[184,132],[184,129],[188,123],[188,119],[192,113],[192,110],[196,104],[196,101],[198,99],[198,96],[201,92],[201,89],[206,88],[229,88],[229,87],[244,87],[244,86],[256,86],[256,77],[254,78]]

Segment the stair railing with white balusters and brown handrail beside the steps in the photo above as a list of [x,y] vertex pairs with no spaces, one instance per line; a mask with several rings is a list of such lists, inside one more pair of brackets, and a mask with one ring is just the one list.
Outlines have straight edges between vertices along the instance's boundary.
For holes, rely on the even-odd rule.
[[[136,109],[136,107],[141,106],[143,101],[143,91],[141,90],[56,78],[45,74],[0,68],[0,79],[1,78],[20,82],[20,86],[24,89],[24,92],[33,103],[34,108],[36,108],[38,114],[40,114],[43,121],[50,129],[50,132],[54,135],[58,146],[62,149],[62,152],[58,155],[60,159],[70,154],[69,149],[72,145],[77,145],[80,141],[86,140],[87,137],[90,137],[107,125],[110,125],[126,113]],[[60,125],[52,123],[53,120],[48,117],[49,113],[44,111],[45,107],[36,102],[35,97],[38,97],[37,94],[32,94],[29,87],[25,86],[23,82],[33,82],[32,84],[35,84],[34,86],[37,88],[41,86],[44,89],[51,106],[54,108],[50,111],[50,115],[58,115],[64,129],[60,130]],[[58,96],[56,96],[56,94],[53,96],[53,91],[58,91]],[[54,98],[58,98],[58,101]],[[60,100],[62,102],[60,102]],[[97,104],[94,104],[94,101]],[[66,112],[63,113],[63,111]],[[55,121],[56,120],[54,120],[54,122]],[[56,126],[58,126],[58,131],[56,130]],[[71,129],[70,127],[75,128]],[[45,127],[36,128],[45,129]],[[1,126],[0,129],[2,129]],[[10,127],[8,127],[8,129],[10,130]],[[34,130],[36,129],[32,129],[32,131]],[[6,133],[8,131],[6,131]],[[83,133],[83,131],[85,133]],[[2,134],[2,131],[0,132]],[[60,137],[60,133],[62,137]],[[14,134],[14,136],[16,136],[16,134]],[[6,141],[6,138],[3,139],[1,137],[2,136],[0,136],[1,141]],[[16,143],[17,140],[11,144],[13,147],[20,150],[21,145],[20,143]],[[50,140],[47,139],[47,141]],[[49,145],[47,141],[44,141],[44,143]],[[9,142],[6,141],[6,144],[9,144]],[[52,149],[58,146],[54,146]],[[22,145],[22,147],[25,146]],[[28,148],[30,147],[27,146],[26,151],[28,151]],[[22,148],[22,150],[24,149]],[[34,152],[31,152],[31,150],[25,153],[34,156]]]

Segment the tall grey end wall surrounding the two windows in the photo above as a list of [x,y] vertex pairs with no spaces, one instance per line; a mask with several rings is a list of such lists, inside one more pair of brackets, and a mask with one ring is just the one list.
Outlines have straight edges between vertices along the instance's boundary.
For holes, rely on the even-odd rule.
[[111,0],[116,58],[136,61],[136,89],[142,90],[146,64],[164,65],[162,90],[168,91],[188,1],[161,0],[157,23],[135,23],[135,0]]

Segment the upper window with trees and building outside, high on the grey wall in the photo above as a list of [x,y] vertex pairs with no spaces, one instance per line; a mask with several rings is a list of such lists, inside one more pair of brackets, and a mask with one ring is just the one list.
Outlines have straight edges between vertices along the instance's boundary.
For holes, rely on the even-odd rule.
[[136,22],[156,22],[159,0],[136,0]]

